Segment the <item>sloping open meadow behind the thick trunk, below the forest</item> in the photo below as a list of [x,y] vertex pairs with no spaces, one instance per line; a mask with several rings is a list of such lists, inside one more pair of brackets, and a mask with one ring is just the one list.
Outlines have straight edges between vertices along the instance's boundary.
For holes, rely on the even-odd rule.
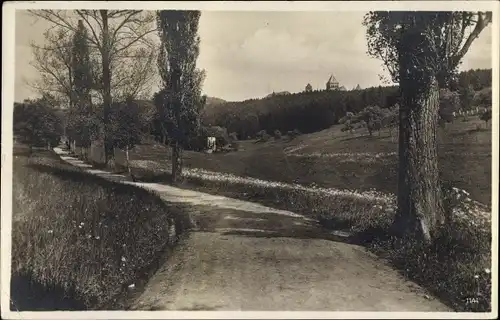
[[[365,130],[351,134],[340,129],[333,126],[293,141],[241,141],[240,151],[227,154],[188,151],[184,163],[265,180],[396,193],[397,133],[391,137],[382,131],[369,137]],[[491,205],[491,122],[486,126],[477,117],[465,122],[457,118],[439,129],[438,141],[444,180]],[[131,152],[131,160],[150,160],[166,167],[170,152],[162,145],[144,144]]]

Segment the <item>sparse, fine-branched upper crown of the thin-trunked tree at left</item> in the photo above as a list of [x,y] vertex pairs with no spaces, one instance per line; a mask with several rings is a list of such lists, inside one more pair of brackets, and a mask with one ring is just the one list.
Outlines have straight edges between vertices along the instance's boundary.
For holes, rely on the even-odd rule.
[[[156,32],[154,13],[142,10],[29,10],[70,37],[81,20],[88,30],[87,41],[95,90],[104,94],[103,58],[109,58],[111,94],[117,101],[128,96],[149,96],[156,55],[152,35]],[[103,15],[102,13],[105,13]],[[105,23],[106,22],[106,23]],[[107,30],[104,30],[105,24]],[[109,40],[104,43],[104,36]],[[71,41],[67,57],[71,58]]]

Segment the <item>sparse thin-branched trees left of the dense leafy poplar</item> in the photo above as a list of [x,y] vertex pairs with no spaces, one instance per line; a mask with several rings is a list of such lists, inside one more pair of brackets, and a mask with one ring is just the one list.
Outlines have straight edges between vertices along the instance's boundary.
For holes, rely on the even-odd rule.
[[40,73],[31,86],[68,107],[68,137],[82,147],[101,139],[113,157],[111,109],[149,97],[156,45],[154,12],[31,10],[51,24],[43,45],[32,44]]

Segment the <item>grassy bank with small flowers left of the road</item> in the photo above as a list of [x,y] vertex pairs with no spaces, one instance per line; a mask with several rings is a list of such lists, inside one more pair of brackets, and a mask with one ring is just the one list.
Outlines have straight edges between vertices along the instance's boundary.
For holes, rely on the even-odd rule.
[[15,148],[13,174],[13,310],[123,308],[124,290],[189,227],[158,196],[49,151]]

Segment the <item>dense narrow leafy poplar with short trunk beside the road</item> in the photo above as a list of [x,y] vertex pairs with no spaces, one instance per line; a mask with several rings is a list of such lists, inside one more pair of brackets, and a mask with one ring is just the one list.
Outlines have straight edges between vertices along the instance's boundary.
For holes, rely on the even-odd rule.
[[206,103],[201,95],[204,71],[196,68],[200,52],[199,11],[157,12],[160,36],[158,69],[162,88],[155,97],[158,124],[173,140],[172,178],[182,175],[182,149],[198,134],[200,112]]

